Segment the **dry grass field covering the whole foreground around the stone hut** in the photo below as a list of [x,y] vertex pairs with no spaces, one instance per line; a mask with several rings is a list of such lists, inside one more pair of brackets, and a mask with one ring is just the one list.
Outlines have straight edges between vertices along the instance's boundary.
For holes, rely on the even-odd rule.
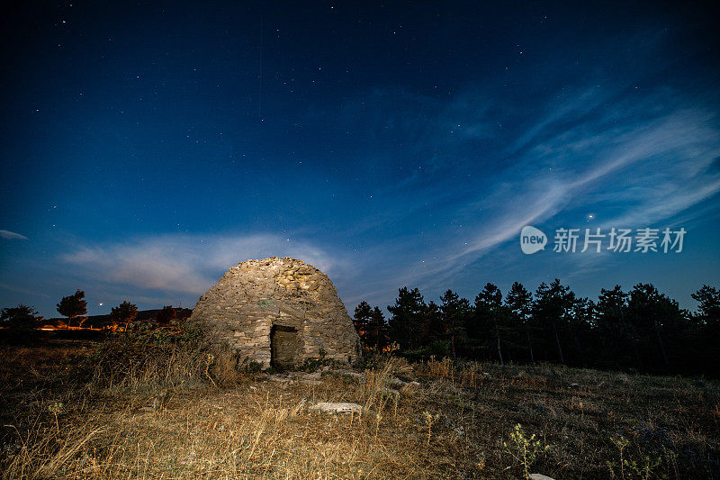
[[398,358],[269,375],[98,349],[0,348],[4,478],[720,478],[714,381]]

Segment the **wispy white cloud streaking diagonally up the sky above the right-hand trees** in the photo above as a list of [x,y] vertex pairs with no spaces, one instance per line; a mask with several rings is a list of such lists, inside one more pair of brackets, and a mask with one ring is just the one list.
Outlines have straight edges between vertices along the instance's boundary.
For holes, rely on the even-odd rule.
[[[490,190],[471,201],[457,195],[463,235],[445,229],[434,245],[408,248],[426,260],[400,278],[439,285],[490,252],[515,248],[527,224],[581,227],[585,214],[601,212],[596,227],[642,228],[720,193],[716,113],[667,90],[618,95],[581,93],[559,110],[548,106],[511,144],[510,167],[491,173]],[[601,258],[577,260],[588,269]]]

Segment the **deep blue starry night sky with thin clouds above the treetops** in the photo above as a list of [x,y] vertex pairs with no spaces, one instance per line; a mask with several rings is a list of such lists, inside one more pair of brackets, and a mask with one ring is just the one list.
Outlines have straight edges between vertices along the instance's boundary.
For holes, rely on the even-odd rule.
[[[350,312],[555,276],[694,309],[720,283],[720,17],[680,4],[6,6],[0,307],[192,307],[292,256]],[[687,234],[553,251],[613,227]]]

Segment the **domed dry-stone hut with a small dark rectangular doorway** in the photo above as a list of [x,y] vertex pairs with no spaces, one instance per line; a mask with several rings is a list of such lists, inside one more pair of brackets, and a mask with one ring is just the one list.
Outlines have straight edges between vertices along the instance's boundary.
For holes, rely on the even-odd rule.
[[295,258],[232,267],[193,309],[217,343],[263,367],[298,367],[306,358],[353,363],[360,340],[327,275]]

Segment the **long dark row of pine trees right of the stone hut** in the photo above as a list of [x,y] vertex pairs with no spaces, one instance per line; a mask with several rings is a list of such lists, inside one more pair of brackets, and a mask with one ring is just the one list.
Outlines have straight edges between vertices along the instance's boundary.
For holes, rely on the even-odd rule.
[[472,303],[452,290],[439,303],[426,302],[418,288],[403,287],[387,319],[380,307],[362,302],[353,322],[366,351],[399,349],[413,359],[720,376],[720,290],[703,285],[692,297],[696,312],[651,284],[602,289],[593,301],[557,278],[535,293],[515,282],[503,295],[489,283]]

